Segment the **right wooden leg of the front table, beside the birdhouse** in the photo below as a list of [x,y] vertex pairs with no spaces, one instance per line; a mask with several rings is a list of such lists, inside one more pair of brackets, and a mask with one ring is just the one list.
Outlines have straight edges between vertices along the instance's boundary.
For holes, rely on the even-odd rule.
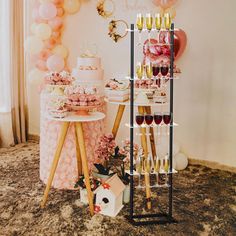
[[85,185],[88,193],[88,202],[89,202],[89,208],[90,208],[90,214],[91,216],[94,215],[94,207],[93,207],[93,192],[91,190],[91,185],[89,181],[89,170],[88,170],[88,163],[87,163],[87,157],[86,157],[86,148],[84,143],[84,134],[83,134],[83,127],[81,122],[76,122],[76,132],[78,135],[78,143],[79,143],[79,149],[82,159],[82,167],[84,172],[84,178],[85,178]]

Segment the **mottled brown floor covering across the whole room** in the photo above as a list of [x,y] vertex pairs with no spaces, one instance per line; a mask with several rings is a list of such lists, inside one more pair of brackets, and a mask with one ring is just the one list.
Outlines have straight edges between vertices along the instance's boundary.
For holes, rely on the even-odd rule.
[[[230,172],[202,166],[179,172],[173,199],[178,223],[169,225],[132,226],[128,206],[116,218],[91,218],[77,191],[53,189],[41,209],[43,190],[37,142],[0,149],[0,235],[236,235],[236,174]],[[153,199],[157,195],[164,208],[165,191],[154,191]],[[144,199],[138,192],[140,212],[146,212]]]

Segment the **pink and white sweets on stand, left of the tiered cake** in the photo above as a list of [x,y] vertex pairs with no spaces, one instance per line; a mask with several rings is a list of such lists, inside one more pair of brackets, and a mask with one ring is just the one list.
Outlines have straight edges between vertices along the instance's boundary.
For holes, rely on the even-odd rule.
[[73,81],[71,74],[67,71],[48,72],[44,78],[46,84],[49,85],[70,85]]

